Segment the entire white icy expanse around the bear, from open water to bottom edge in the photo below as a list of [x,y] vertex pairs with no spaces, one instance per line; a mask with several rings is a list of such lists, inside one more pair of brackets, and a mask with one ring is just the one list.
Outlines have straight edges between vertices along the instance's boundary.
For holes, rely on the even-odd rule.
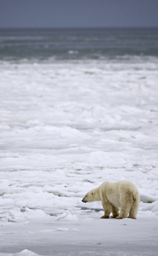
[[[0,256],[157,255],[158,61],[0,64]],[[137,220],[85,193],[130,180]]]

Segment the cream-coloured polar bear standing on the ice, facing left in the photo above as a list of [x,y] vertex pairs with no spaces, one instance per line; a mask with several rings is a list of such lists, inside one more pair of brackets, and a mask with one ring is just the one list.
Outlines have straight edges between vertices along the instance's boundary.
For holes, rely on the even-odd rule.
[[128,180],[118,181],[117,183],[105,181],[98,188],[86,193],[82,201],[84,203],[101,201],[104,208],[104,216],[101,218],[109,218],[112,212],[113,218],[130,217],[136,219],[140,197],[136,185]]

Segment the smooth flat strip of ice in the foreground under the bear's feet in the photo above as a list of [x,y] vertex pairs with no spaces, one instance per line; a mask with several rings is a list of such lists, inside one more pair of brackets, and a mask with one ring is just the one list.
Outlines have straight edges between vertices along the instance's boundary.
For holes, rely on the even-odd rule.
[[138,214],[137,220],[92,219],[61,223],[50,218],[2,226],[0,256],[157,256],[158,224],[154,215]]

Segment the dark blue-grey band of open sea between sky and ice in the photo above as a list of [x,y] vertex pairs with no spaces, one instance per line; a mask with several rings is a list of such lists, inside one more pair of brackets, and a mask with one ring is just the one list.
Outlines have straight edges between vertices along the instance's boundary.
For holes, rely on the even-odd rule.
[[158,57],[158,28],[1,29],[0,60]]

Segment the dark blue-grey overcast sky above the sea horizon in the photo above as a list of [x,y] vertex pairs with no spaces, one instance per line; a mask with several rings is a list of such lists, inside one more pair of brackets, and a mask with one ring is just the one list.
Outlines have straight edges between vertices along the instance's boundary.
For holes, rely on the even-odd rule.
[[158,27],[158,0],[0,0],[0,28]]

